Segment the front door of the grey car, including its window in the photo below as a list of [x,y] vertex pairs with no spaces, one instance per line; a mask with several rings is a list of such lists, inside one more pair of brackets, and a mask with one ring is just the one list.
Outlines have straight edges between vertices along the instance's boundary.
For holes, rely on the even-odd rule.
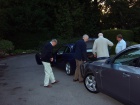
[[134,66],[130,63],[136,59],[133,53],[137,49],[129,49],[115,57],[111,64],[104,64],[101,78],[103,89],[122,99],[130,101],[130,81]]

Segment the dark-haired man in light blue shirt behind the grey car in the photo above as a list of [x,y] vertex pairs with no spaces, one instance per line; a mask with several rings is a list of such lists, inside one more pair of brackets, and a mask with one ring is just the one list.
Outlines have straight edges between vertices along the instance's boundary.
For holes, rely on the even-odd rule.
[[126,48],[126,42],[123,40],[123,37],[121,34],[117,35],[117,41],[118,43],[115,49],[116,54]]

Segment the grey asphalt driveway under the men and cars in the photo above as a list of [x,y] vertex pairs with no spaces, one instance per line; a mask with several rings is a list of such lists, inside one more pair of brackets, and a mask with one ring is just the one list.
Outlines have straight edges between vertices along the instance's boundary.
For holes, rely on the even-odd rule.
[[122,105],[103,94],[88,92],[82,83],[73,82],[61,69],[53,67],[60,82],[44,88],[43,66],[35,62],[34,54],[1,60],[0,105]]

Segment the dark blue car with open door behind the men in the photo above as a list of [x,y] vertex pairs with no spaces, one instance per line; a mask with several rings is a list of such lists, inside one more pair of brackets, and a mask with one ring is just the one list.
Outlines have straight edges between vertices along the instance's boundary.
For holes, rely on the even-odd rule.
[[[92,47],[95,39],[89,39],[87,44],[87,58],[88,60],[94,61],[96,58],[93,57]],[[66,44],[60,47],[54,53],[54,62],[53,65],[60,67],[66,71],[67,75],[72,75],[75,73],[76,62],[74,58],[74,45],[75,44]]]

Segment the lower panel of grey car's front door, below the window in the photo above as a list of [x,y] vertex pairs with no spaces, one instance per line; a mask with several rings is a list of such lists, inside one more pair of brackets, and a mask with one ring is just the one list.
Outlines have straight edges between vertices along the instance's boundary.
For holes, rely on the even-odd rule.
[[101,79],[103,90],[123,100],[130,97],[130,78],[127,71],[122,71],[123,65],[106,65],[102,68]]

